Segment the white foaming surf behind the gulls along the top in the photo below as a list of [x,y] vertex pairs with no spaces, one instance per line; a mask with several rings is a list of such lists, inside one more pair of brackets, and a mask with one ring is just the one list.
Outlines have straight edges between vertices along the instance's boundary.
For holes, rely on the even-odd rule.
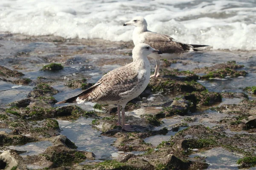
[[0,0],[10,33],[130,41],[135,16],[180,42],[256,50],[256,0]]

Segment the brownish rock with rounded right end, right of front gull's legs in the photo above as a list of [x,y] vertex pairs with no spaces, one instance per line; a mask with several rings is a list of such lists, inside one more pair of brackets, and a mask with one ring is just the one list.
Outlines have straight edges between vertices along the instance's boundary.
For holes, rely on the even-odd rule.
[[173,115],[184,116],[189,111],[189,104],[185,99],[173,100],[172,104],[169,107],[163,108],[163,111],[160,111],[156,114],[157,118],[163,118]]

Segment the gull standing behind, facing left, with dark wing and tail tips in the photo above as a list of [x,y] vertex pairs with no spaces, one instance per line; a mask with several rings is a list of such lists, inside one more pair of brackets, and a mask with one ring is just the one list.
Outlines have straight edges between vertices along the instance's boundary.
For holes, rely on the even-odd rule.
[[153,48],[160,49],[163,52],[162,57],[159,54],[150,54],[148,57],[151,57],[156,60],[157,65],[155,72],[151,77],[158,77],[160,61],[159,59],[171,59],[177,57],[179,54],[189,51],[200,51],[198,47],[206,47],[209,45],[193,45],[185,44],[174,40],[172,37],[164,34],[158,34],[152,31],[148,31],[147,22],[143,17],[135,17],[131,21],[124,23],[123,26],[133,25],[135,26],[132,39],[134,45],[139,43],[146,43],[151,45]]

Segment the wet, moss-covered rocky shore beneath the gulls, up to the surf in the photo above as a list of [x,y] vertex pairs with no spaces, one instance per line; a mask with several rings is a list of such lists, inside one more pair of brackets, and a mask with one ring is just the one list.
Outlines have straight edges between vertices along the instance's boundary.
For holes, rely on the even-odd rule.
[[[133,125],[135,131],[124,132],[116,125],[114,106],[94,105],[88,109],[81,105],[56,106],[55,103],[60,98],[58,95],[67,97],[65,91],[69,89],[73,93],[90,87],[97,75],[108,72],[111,66],[131,62],[132,42],[1,34],[1,45],[8,49],[10,42],[24,44],[26,48],[13,52],[13,47],[12,54],[4,51],[0,80],[13,87],[32,86],[32,90],[26,90],[26,97],[4,102],[0,108],[0,169],[207,169],[211,167],[207,157],[191,155],[219,147],[240,156],[233,166],[236,169],[256,165],[253,82],[240,92],[212,91],[201,83],[238,81],[255,74],[255,66],[231,60],[180,71],[170,65],[188,63],[181,59],[163,61],[165,68],[160,73],[163,76],[151,79],[143,94],[125,108],[131,112],[125,121]],[[255,51],[247,53],[256,57]],[[106,57],[108,55],[113,57]],[[106,67],[108,65],[110,67]],[[1,94],[1,99],[4,95]],[[139,110],[143,111],[137,114]],[[62,135],[64,127],[59,126],[60,120],[75,122],[81,117],[91,119],[87,127],[99,131],[100,136],[116,138],[111,145],[118,152],[111,158],[97,159],[95,153],[79,149],[81,146]],[[169,133],[173,135],[157,145],[145,142],[146,138]],[[50,146],[39,154],[24,156],[25,150],[12,149],[44,141]],[[101,145],[97,141],[94,144]]]

